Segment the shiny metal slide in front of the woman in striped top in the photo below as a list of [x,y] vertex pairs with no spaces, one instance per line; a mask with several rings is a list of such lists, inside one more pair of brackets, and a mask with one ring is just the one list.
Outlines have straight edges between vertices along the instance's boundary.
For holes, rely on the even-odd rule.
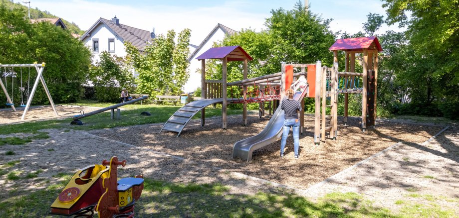
[[[301,101],[308,89],[305,88],[303,92],[296,92],[293,99]],[[242,139],[236,143],[232,148],[232,158],[239,157],[249,162],[252,159],[252,152],[258,148],[262,148],[275,142],[282,135],[282,126],[284,124],[284,110],[280,109],[282,101],[276,109],[266,127],[257,135]],[[304,107],[304,106],[303,106]]]

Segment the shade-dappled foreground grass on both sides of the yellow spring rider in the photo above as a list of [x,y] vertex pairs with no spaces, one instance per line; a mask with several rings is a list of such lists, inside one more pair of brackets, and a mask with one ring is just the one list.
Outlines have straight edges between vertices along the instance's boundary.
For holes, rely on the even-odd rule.
[[[44,189],[10,193],[15,197],[0,202],[0,217],[50,217],[49,206],[70,177],[59,174]],[[185,185],[147,178],[136,217],[398,217],[355,193],[332,193],[315,203],[285,190],[255,195],[228,191],[219,183]]]

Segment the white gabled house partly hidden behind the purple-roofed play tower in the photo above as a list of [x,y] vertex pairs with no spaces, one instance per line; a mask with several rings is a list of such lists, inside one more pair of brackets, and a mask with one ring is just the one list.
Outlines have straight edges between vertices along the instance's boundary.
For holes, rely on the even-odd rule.
[[188,62],[190,62],[190,78],[184,86],[185,93],[193,92],[198,87],[201,87],[201,61],[195,60],[195,58],[212,48],[215,42],[222,41],[225,35],[234,33],[237,33],[237,31],[218,23],[199,45],[190,44],[191,55],[188,58]]

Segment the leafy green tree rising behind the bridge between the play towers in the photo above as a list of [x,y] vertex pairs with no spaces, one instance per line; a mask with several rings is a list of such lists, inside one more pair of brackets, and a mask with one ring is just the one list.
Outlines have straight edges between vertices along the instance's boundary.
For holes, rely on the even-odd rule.
[[[311,11],[305,13],[300,2],[291,10],[279,8],[271,11],[266,19],[266,29],[255,32],[243,29],[234,35],[227,35],[221,44],[215,46],[240,45],[252,58],[248,62],[248,78],[280,72],[280,62],[332,64],[328,48],[334,42],[334,35],[328,30],[331,20],[324,20]],[[228,64],[228,81],[242,79],[242,62]],[[208,79],[221,79],[221,63],[208,61]],[[230,93],[230,92],[229,92]]]

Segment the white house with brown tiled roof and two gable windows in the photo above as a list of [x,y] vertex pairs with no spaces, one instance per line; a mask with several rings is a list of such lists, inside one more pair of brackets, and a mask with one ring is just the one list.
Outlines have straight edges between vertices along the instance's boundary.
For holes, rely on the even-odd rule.
[[[119,57],[126,56],[124,42],[130,42],[140,53],[152,43],[155,38],[153,32],[138,29],[120,23],[116,16],[111,20],[99,18],[81,37],[80,40],[89,47],[93,53],[92,62],[100,60],[99,53],[108,51]],[[134,76],[137,76],[134,74]]]

